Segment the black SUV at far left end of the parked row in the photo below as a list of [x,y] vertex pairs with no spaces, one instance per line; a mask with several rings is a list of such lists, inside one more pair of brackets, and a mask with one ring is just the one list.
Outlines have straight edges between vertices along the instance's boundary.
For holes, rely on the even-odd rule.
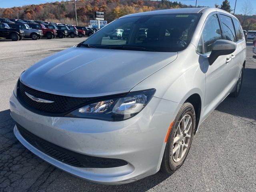
[[8,24],[0,23],[0,37],[18,41],[22,40],[24,35],[24,30],[10,28]]

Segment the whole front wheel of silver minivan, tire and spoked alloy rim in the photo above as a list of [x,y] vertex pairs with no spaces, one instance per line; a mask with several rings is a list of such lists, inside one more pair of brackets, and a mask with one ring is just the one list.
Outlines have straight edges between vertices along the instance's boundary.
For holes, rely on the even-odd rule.
[[191,103],[184,103],[172,126],[166,142],[161,170],[173,174],[188,155],[196,127],[196,114]]

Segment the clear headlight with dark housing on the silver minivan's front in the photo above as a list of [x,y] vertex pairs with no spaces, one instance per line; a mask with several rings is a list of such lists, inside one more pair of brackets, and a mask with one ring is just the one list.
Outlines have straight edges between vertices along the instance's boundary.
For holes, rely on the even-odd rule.
[[150,101],[155,89],[130,92],[124,96],[100,100],[74,110],[66,117],[121,121],[138,114]]

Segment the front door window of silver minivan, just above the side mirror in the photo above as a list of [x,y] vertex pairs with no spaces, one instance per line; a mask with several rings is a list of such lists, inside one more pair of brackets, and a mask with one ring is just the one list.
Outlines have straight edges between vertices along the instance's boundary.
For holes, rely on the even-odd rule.
[[[207,54],[212,51],[212,44],[216,40],[222,39],[220,23],[217,14],[208,18],[204,26],[203,32],[204,53]],[[200,48],[198,48],[200,49]]]

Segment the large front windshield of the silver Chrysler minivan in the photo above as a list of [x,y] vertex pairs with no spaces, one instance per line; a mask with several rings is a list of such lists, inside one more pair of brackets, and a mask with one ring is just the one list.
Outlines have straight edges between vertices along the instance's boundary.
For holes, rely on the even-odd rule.
[[194,34],[200,14],[161,14],[120,18],[88,38],[84,44],[113,48],[177,52]]

